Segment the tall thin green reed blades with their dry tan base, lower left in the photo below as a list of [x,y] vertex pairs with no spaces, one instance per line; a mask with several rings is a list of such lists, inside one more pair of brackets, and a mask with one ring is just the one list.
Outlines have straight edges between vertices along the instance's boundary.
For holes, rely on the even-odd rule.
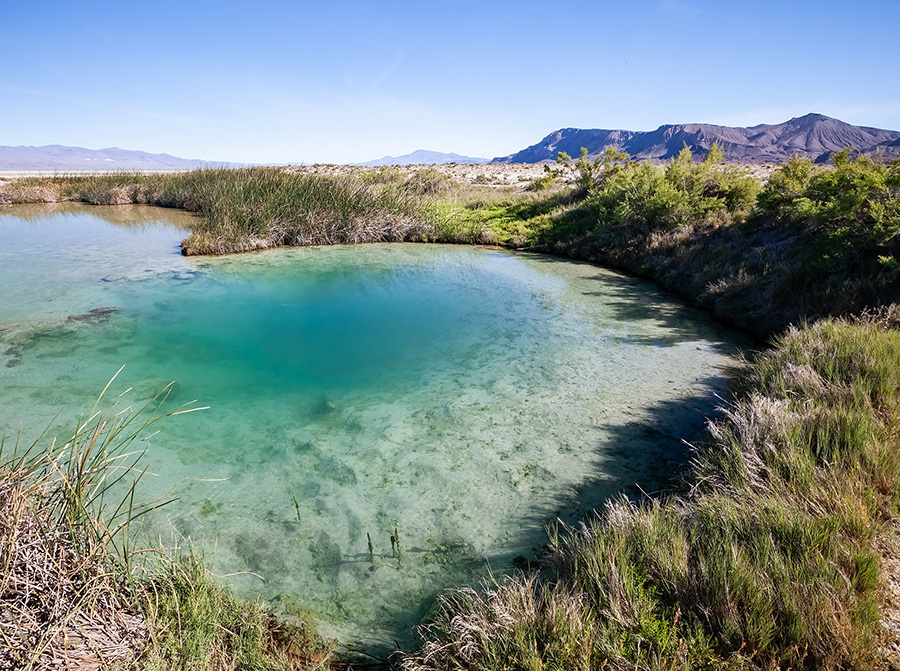
[[[102,395],[101,395],[102,398]],[[98,410],[65,442],[3,440],[0,464],[0,611],[5,668],[122,662],[146,625],[128,580],[140,452],[127,452],[155,419]]]

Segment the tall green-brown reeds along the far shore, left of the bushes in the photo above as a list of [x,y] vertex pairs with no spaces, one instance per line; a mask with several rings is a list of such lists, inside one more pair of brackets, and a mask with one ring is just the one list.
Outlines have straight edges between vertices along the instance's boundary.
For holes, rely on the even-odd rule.
[[434,239],[429,206],[447,182],[438,176],[443,179],[416,173],[400,181],[278,168],[117,172],[20,180],[4,187],[3,197],[185,209],[202,216],[183,242],[184,253],[226,254],[281,245]]

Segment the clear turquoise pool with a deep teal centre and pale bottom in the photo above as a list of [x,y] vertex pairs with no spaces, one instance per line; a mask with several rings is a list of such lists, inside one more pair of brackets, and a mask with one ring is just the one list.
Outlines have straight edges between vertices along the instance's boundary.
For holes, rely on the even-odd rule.
[[123,364],[136,402],[176,380],[172,405],[211,407],[152,439],[144,494],[178,501],[149,529],[345,641],[408,640],[434,594],[533,556],[546,522],[656,487],[739,343],[585,264],[440,245],[183,258],[187,217],[0,210],[0,426],[37,434],[65,405],[68,428]]

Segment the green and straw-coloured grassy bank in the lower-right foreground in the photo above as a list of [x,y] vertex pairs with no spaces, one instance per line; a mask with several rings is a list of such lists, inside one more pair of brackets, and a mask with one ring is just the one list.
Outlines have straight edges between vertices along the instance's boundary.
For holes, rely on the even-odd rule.
[[877,666],[878,541],[900,501],[895,321],[784,334],[743,371],[684,494],[552,530],[543,578],[444,597],[404,668]]

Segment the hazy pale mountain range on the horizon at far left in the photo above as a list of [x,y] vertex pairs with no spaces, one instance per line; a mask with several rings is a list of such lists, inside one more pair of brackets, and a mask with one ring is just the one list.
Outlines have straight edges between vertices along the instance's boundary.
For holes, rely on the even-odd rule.
[[58,144],[43,147],[0,147],[0,170],[193,170],[235,166],[233,163],[178,158],[169,154],[148,154],[145,151],[118,147],[85,149]]

